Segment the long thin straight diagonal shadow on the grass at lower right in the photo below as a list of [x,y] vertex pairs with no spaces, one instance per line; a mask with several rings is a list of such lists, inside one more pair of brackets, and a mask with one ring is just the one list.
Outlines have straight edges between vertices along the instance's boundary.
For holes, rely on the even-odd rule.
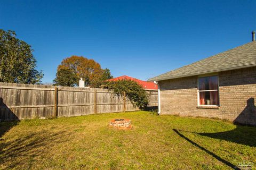
[[192,145],[196,146],[197,148],[205,151],[207,154],[210,154],[211,156],[213,156],[214,158],[218,159],[220,162],[222,162],[223,164],[226,164],[227,166],[233,168],[233,169],[240,169],[237,166],[235,166],[234,164],[228,162],[225,159],[222,159],[221,157],[219,157],[218,155],[214,154],[213,152],[211,152],[210,150],[205,149],[204,147],[198,145],[196,142],[188,139],[187,137],[185,137],[185,135],[181,134],[177,129],[173,129],[173,131],[175,133],[177,133],[181,138],[185,139],[186,141],[188,141],[189,143],[191,143]]

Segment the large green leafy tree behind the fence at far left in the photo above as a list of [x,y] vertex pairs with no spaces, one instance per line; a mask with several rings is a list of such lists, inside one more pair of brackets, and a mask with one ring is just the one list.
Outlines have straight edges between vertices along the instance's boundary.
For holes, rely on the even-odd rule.
[[15,36],[14,31],[0,29],[0,81],[40,84],[43,73],[36,70],[33,49]]

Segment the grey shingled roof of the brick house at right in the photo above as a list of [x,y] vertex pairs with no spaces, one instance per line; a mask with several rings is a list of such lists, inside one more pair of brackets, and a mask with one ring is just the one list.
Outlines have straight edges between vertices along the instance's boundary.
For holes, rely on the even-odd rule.
[[213,55],[204,60],[158,75],[148,81],[161,81],[199,74],[256,66],[256,41]]

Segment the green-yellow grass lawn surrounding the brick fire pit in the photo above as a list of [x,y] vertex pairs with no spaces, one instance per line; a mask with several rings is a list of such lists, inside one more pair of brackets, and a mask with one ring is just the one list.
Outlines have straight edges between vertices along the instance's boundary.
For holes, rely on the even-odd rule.
[[[130,118],[132,130],[108,127]],[[0,169],[232,169],[256,165],[256,128],[150,112],[0,123]]]

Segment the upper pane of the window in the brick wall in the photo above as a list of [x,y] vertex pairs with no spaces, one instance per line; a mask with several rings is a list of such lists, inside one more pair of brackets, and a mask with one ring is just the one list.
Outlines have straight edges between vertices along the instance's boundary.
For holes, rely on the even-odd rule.
[[218,76],[199,78],[199,90],[218,90]]

